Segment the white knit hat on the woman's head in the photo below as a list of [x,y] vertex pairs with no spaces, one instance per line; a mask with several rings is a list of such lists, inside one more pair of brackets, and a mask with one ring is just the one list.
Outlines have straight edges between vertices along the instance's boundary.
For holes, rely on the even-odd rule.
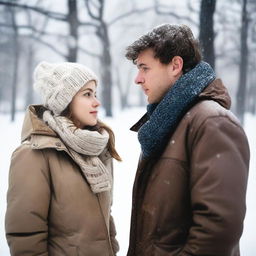
[[34,89],[41,95],[44,106],[55,115],[59,115],[89,81],[97,85],[98,78],[89,68],[72,62],[43,61],[34,71]]

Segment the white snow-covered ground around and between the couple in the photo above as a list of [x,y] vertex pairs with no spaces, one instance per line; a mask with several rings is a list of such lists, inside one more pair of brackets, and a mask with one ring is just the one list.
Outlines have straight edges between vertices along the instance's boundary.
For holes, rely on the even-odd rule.
[[[137,135],[129,131],[129,127],[137,121],[143,112],[144,109],[134,108],[116,114],[115,118],[104,118],[104,121],[115,132],[117,150],[123,158],[123,162],[115,162],[114,205],[112,208],[118,233],[117,238],[121,247],[118,256],[126,255],[128,247],[132,184],[140,152]],[[15,123],[10,123],[9,116],[0,115],[0,256],[10,255],[4,233],[8,169],[11,153],[19,144],[23,115],[23,113],[19,114]],[[247,215],[241,239],[242,256],[256,255],[256,200],[254,200],[256,194],[255,128],[256,116],[246,115],[245,131],[250,143],[251,164],[247,193]]]

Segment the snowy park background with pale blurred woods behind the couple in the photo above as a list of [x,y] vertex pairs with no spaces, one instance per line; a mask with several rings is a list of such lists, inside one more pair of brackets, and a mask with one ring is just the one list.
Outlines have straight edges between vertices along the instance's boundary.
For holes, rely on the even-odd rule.
[[[27,11],[29,8],[15,9],[5,6],[5,3],[8,2],[23,5],[23,7],[28,5],[32,9]],[[69,28],[71,24],[67,16],[69,9],[67,3],[69,2],[76,2],[78,5],[77,14],[79,15],[77,18],[81,23],[77,31],[79,39],[75,39],[72,33],[70,34],[73,29]],[[120,243],[118,256],[125,256],[129,242],[132,186],[140,154],[137,134],[131,132],[129,127],[145,111],[145,107],[134,108],[134,106],[143,106],[146,103],[139,87],[133,85],[135,68],[125,60],[125,48],[152,27],[167,22],[189,25],[198,38],[201,31],[200,4],[214,1],[109,0],[105,1],[102,20],[93,18],[95,15],[90,14],[89,8],[85,7],[84,2],[86,1],[0,0],[0,256],[10,255],[4,231],[10,157],[20,143],[24,117],[22,111],[25,105],[38,103],[32,93],[31,79],[35,65],[41,60],[49,62],[70,60],[69,53],[72,52],[74,46],[79,46],[77,58],[73,58],[73,60],[91,67],[96,74],[101,76],[101,79],[104,77],[103,70],[111,71],[108,75],[112,77],[110,83],[112,89],[108,92],[113,94],[111,101],[113,117],[105,117],[105,112],[102,109],[101,119],[113,128],[117,150],[123,159],[121,163],[114,162],[115,183],[112,213],[116,222],[117,239]],[[94,7],[93,13],[100,13],[101,6],[93,3],[103,3],[104,1],[91,0],[89,2],[92,3],[91,7]],[[240,65],[242,63],[240,62],[241,56],[245,56],[245,47],[240,47],[242,45],[241,14],[245,2],[249,4],[247,8],[249,21],[247,41],[250,65],[247,72],[242,73],[247,74],[247,109],[250,109],[254,115],[246,113],[244,121],[245,132],[250,143],[251,162],[247,190],[247,214],[240,245],[241,256],[256,256],[256,1],[216,0],[213,32],[216,53],[215,71],[230,92],[233,102],[232,110],[235,112],[236,106],[241,105],[237,104],[237,95],[241,95],[241,93],[237,93],[238,86],[246,84],[239,82],[239,71],[242,70],[240,67],[246,66]],[[72,13],[74,15],[76,12]],[[202,13],[208,20],[208,12],[204,10]],[[10,25],[10,20],[13,20],[14,17],[16,18],[14,23],[20,26],[18,30],[14,23]],[[87,22],[91,26],[83,25]],[[206,22],[202,22],[202,24],[204,25]],[[95,31],[101,31],[102,25],[107,26],[107,32],[105,37],[99,38],[99,33],[95,33]],[[14,33],[14,31],[16,32]],[[109,46],[106,44],[108,41],[106,39],[109,39]],[[111,57],[109,64],[102,62],[104,60],[102,53],[106,49]],[[14,72],[15,61],[17,61],[18,68],[16,72]],[[15,80],[16,83],[14,83]],[[101,81],[100,84],[100,88],[104,88],[106,85],[105,81]],[[14,85],[17,86],[16,89],[13,89]],[[102,89],[99,90],[101,97],[105,95]],[[16,98],[12,97],[14,92]],[[16,107],[13,107],[12,103],[16,103]],[[15,114],[14,122],[10,122],[11,106],[17,111],[13,113]]]

